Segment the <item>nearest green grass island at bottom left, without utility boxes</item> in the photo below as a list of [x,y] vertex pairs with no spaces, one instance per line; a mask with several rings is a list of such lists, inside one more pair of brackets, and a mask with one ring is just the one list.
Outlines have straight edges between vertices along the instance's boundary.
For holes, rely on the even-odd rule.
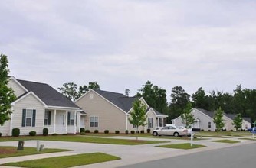
[[65,168],[72,166],[82,166],[93,163],[107,162],[110,160],[120,160],[120,157],[114,157],[105,153],[85,153],[65,157],[51,157],[40,160],[28,160],[17,163],[6,163],[4,166],[19,166],[28,168]]

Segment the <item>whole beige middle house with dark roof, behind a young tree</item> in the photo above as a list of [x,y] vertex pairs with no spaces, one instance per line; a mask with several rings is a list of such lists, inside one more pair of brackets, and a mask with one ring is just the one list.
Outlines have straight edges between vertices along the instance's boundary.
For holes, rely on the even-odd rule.
[[[84,123],[84,128],[90,131],[98,130],[103,132],[136,130],[128,121],[130,112],[133,111],[135,97],[128,97],[117,92],[107,92],[103,90],[90,89],[75,102],[80,108],[86,111],[86,115],[81,116],[80,123]],[[149,107],[143,98],[139,99],[146,105],[147,124],[140,127],[139,131],[150,128],[162,128],[166,125],[167,115],[162,115],[159,111]]]

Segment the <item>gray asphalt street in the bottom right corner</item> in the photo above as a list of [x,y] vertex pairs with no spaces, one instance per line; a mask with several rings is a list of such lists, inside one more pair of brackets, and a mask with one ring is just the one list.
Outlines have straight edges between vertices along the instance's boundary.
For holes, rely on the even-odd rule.
[[256,167],[256,144],[226,147],[199,153],[138,163],[122,168],[252,168]]

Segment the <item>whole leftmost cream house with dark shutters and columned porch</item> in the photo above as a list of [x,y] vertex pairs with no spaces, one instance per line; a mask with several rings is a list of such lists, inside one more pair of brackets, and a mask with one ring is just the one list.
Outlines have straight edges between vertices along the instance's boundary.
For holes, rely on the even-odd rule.
[[80,117],[80,108],[48,84],[11,77],[8,86],[18,99],[11,103],[11,120],[0,127],[3,135],[11,135],[13,128],[19,128],[21,135],[30,131],[42,134],[44,128],[49,134],[79,131],[76,118]]

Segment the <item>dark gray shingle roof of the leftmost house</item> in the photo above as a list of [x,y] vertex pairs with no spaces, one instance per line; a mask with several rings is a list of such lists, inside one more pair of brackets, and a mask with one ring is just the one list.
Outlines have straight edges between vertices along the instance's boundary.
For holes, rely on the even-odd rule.
[[54,88],[45,83],[31,82],[17,79],[28,91],[34,92],[41,101],[49,106],[58,107],[69,107],[69,108],[79,108],[70,99],[67,99],[60,92],[57,92]]

